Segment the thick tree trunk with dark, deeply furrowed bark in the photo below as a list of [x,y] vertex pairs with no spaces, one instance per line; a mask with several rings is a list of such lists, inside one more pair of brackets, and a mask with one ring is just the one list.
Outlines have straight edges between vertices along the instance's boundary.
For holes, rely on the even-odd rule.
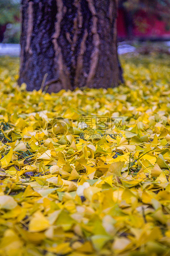
[[48,92],[118,85],[117,0],[22,0],[19,84]]

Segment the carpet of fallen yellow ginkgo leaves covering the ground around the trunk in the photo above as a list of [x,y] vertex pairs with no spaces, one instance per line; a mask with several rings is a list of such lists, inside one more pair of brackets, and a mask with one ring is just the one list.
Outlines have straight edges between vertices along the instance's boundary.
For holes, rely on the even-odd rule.
[[0,255],[170,255],[165,57],[123,57],[119,88],[51,95],[0,58]]

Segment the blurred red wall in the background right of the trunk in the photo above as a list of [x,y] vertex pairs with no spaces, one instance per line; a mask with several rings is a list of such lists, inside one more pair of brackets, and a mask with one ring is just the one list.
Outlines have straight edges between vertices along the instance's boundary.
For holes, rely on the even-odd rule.
[[122,1],[117,20],[118,40],[170,40],[170,13],[157,5],[155,9],[127,11]]

